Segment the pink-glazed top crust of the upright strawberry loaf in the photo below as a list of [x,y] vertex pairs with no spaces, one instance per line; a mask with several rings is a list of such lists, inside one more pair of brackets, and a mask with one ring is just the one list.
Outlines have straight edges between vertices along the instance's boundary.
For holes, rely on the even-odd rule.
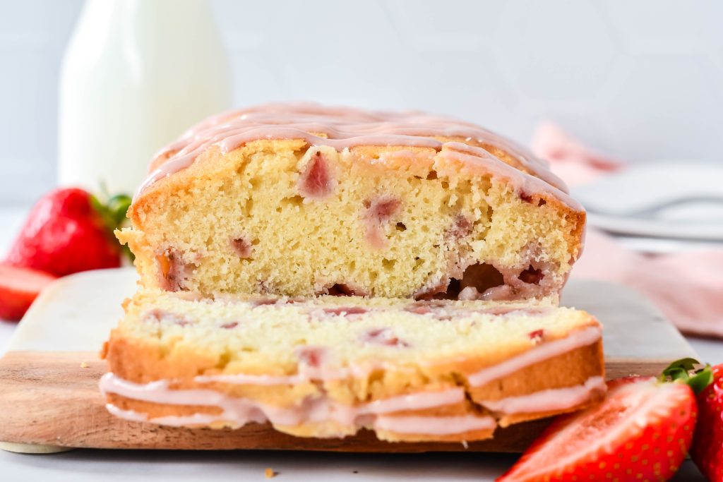
[[[530,176],[479,147],[460,142],[442,142],[436,137],[461,137],[499,148],[534,176]],[[353,108],[325,108],[312,103],[269,104],[221,113],[210,117],[155,156],[153,172],[145,179],[134,199],[161,178],[192,165],[216,145],[221,152],[235,150],[259,139],[303,139],[309,145],[328,145],[345,150],[360,145],[431,147],[448,158],[475,165],[489,173],[501,174],[521,193],[544,191],[575,210],[582,207],[565,192],[543,160],[515,142],[475,124],[420,112],[377,112]],[[537,179],[536,182],[534,179]]]

